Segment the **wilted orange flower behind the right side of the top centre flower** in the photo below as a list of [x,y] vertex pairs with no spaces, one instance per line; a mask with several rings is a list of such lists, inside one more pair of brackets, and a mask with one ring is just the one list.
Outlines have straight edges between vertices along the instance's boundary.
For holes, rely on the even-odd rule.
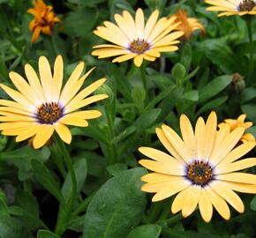
[[176,29],[184,32],[182,38],[185,41],[189,40],[192,33],[198,29],[201,30],[201,35],[206,33],[205,27],[200,24],[198,19],[187,18],[187,11],[178,10],[174,16],[177,17],[176,22],[180,22],[180,25],[178,25]]

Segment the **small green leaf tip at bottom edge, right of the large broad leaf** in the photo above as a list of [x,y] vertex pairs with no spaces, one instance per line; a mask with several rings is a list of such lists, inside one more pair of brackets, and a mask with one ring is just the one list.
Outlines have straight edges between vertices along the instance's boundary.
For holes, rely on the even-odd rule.
[[158,238],[161,230],[158,225],[143,225],[134,228],[126,238]]

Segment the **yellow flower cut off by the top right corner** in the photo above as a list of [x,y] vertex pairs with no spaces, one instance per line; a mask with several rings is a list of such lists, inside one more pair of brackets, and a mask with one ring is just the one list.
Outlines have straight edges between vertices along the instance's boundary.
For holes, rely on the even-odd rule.
[[206,0],[206,3],[214,5],[207,7],[207,11],[223,11],[218,17],[256,14],[256,1],[252,0]]

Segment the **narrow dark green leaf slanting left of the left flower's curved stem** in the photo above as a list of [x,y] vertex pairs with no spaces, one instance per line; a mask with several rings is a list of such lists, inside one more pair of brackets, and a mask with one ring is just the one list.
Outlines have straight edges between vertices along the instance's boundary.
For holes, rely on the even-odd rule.
[[55,177],[51,174],[49,169],[45,167],[41,162],[37,160],[32,160],[32,167],[34,168],[34,177],[41,185],[56,197],[56,199],[64,205],[64,197],[60,192],[58,183]]

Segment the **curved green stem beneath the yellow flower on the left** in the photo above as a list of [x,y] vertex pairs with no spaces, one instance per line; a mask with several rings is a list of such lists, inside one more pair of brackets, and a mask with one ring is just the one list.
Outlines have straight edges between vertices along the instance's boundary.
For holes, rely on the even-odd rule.
[[72,179],[72,192],[71,192],[70,197],[68,197],[66,209],[63,210],[63,207],[60,206],[58,219],[56,222],[56,234],[61,235],[64,233],[65,224],[70,219],[72,208],[73,208],[76,196],[77,196],[77,179],[76,179],[74,168],[72,166],[71,156],[70,156],[69,152],[67,151],[67,148],[64,145],[63,140],[61,138],[59,138],[57,135],[55,135],[54,138],[55,138],[56,144],[57,144],[60,152],[62,152],[62,154],[63,154],[64,162],[66,163],[66,166],[69,169],[69,172],[71,174],[71,179]]

